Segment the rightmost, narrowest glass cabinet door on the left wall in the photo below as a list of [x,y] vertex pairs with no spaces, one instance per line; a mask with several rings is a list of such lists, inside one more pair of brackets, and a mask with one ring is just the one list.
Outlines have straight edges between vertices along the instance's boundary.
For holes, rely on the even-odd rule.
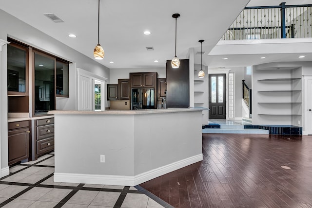
[[56,71],[56,90],[58,95],[69,95],[68,85],[68,68],[69,64],[57,60],[57,71]]

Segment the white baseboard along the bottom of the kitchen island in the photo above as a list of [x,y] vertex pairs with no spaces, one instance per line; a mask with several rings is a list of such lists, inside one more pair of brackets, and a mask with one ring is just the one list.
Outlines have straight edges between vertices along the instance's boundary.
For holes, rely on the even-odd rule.
[[203,155],[199,154],[186,159],[165,165],[145,173],[140,173],[135,176],[126,175],[98,175],[98,174],[78,174],[78,173],[54,173],[55,182],[66,183],[86,183],[86,184],[104,184],[104,185],[119,185],[119,186],[137,186],[143,182],[156,178],[160,175],[170,173],[177,169],[191,165],[195,162],[203,160]]

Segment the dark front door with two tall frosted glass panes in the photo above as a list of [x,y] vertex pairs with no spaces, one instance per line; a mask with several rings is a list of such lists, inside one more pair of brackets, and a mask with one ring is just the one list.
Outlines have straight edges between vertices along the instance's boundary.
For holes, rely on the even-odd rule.
[[225,74],[209,74],[209,119],[226,119]]

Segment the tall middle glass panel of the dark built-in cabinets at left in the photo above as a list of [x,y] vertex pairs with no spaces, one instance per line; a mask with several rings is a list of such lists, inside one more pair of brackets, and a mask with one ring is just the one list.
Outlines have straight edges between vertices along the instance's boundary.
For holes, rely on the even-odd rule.
[[55,109],[55,59],[35,53],[35,115]]

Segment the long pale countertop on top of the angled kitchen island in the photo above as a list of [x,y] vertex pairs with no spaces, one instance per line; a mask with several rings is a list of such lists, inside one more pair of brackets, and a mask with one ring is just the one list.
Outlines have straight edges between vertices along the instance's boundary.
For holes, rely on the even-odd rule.
[[166,108],[141,110],[50,110],[49,114],[79,114],[79,115],[140,115],[156,113],[176,113],[209,110],[209,108]]

